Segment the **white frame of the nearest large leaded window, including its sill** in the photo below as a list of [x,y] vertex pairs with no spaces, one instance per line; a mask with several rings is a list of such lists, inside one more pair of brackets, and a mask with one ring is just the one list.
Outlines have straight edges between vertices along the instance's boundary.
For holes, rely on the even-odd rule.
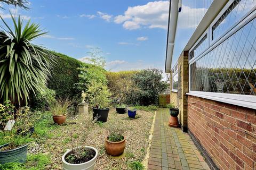
[[[232,1],[233,3],[234,1]],[[231,2],[230,2],[231,3]],[[221,16],[223,12],[227,10],[227,8],[230,6],[230,3],[225,6],[220,14],[218,15]],[[234,35],[235,32],[237,32],[239,29],[244,27],[247,23],[249,23],[251,20],[256,18],[256,6],[253,7],[254,11],[251,11],[247,13],[245,16],[242,17],[243,20],[239,20],[239,22],[234,23],[233,26],[231,26],[230,29],[228,29],[228,32],[223,33],[217,40],[211,41],[211,37],[209,38],[210,40],[210,47],[206,49],[201,55],[198,57],[194,57],[194,60],[189,61],[189,93],[187,95],[191,96],[197,96],[197,97],[202,97],[202,98],[207,98],[211,100],[217,100],[221,101],[224,103],[229,103],[229,104],[234,104],[238,106],[243,106],[243,107],[249,107],[256,109],[256,96],[251,96],[251,95],[238,95],[238,94],[226,94],[226,93],[218,93],[218,92],[205,92],[205,91],[192,91],[190,90],[190,84],[191,84],[191,78],[190,78],[190,65],[193,64],[194,62],[198,61],[200,58],[204,57],[207,53],[211,52],[211,50],[218,45],[220,45],[223,41],[225,41],[227,38],[230,36]],[[217,18],[219,19],[219,18]],[[217,20],[215,19],[213,23]],[[211,32],[212,25],[207,29]],[[209,34],[211,36],[211,33]],[[191,48],[193,49],[193,48]]]

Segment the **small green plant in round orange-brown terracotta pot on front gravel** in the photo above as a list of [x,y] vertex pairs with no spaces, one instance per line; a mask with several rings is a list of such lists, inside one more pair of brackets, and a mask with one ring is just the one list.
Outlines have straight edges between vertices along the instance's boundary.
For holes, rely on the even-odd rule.
[[105,137],[105,149],[108,155],[119,156],[125,149],[125,128],[120,124],[113,123],[108,128],[108,135]]

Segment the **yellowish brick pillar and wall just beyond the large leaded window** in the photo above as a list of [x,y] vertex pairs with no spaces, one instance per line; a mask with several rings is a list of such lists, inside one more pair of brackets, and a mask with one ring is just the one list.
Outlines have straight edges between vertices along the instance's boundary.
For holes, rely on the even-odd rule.
[[[187,96],[188,92],[188,52],[182,52],[178,59],[178,68],[180,70],[181,76],[181,98],[179,102],[179,122],[182,125],[182,130],[187,130]],[[172,79],[172,77],[171,77]],[[172,87],[172,80],[171,80]],[[175,106],[178,105],[178,92],[171,91],[170,94],[170,103],[173,103]]]

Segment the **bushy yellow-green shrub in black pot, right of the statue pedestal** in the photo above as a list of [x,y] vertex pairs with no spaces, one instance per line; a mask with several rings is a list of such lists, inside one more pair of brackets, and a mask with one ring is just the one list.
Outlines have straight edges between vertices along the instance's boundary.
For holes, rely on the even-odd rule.
[[92,81],[87,90],[87,96],[92,108],[93,120],[98,117],[97,121],[107,122],[111,92],[106,84]]

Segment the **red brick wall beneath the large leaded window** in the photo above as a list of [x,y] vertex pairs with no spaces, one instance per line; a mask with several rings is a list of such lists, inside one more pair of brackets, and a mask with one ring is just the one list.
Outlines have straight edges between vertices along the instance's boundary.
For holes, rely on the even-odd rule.
[[188,96],[188,129],[220,169],[256,169],[256,110]]

